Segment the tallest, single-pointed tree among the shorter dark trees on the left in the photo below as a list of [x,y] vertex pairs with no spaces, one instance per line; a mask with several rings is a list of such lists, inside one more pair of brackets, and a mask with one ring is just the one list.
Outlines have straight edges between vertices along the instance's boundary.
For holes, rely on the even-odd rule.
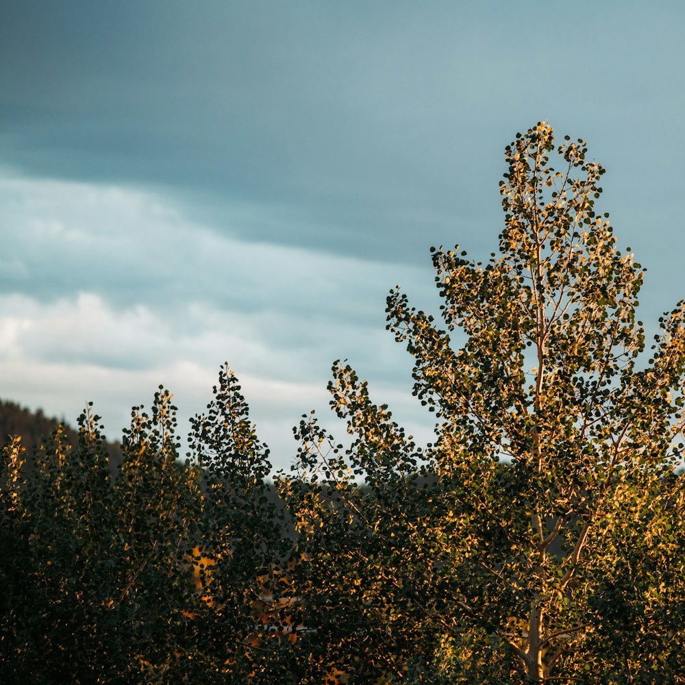
[[197,555],[203,589],[195,610],[202,682],[297,682],[284,568],[292,540],[282,507],[270,497],[269,449],[256,435],[238,378],[219,372],[207,412],[191,420],[190,448],[204,473]]

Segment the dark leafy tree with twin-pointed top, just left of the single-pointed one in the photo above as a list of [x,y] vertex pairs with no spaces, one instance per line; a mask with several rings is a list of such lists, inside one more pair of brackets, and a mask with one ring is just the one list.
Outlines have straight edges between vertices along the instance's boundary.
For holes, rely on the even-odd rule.
[[180,679],[196,669],[188,614],[197,602],[190,573],[201,540],[201,472],[179,463],[172,397],[160,386],[150,414],[133,408],[112,492],[107,642],[128,682]]

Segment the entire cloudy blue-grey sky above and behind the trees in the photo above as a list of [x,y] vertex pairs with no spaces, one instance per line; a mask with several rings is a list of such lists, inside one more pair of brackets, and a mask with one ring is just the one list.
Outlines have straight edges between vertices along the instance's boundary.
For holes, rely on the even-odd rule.
[[[516,132],[608,173],[648,332],[685,295],[685,5],[627,0],[0,3],[0,397],[121,436],[160,384],[182,434],[238,375],[275,468],[347,358],[419,442],[386,331],[438,313],[432,245],[497,249]],[[458,336],[456,338],[458,343]]]

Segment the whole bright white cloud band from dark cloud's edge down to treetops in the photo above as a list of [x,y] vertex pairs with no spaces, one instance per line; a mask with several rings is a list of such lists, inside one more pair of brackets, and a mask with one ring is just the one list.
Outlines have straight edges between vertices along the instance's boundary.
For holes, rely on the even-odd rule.
[[399,418],[416,411],[411,362],[384,330],[383,307],[397,271],[414,285],[429,284],[428,270],[254,245],[184,220],[157,195],[7,172],[0,222],[2,264],[20,265],[0,271],[8,399],[71,423],[93,401],[117,436],[161,383],[184,433],[227,361],[277,467],[295,453],[301,414],[316,408],[336,425],[325,390],[336,358],[375,379]]

